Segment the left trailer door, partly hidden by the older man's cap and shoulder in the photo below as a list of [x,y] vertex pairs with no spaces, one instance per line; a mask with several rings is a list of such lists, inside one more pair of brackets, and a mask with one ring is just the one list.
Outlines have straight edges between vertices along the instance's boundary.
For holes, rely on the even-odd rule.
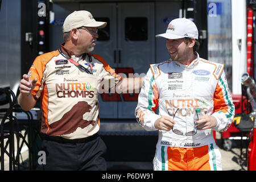
[[[105,28],[98,30],[98,40],[92,53],[103,57],[112,68],[117,68],[117,20],[115,3],[82,3],[80,10],[92,13],[97,21],[107,22]],[[100,118],[117,118],[117,94],[104,93],[99,98]]]

